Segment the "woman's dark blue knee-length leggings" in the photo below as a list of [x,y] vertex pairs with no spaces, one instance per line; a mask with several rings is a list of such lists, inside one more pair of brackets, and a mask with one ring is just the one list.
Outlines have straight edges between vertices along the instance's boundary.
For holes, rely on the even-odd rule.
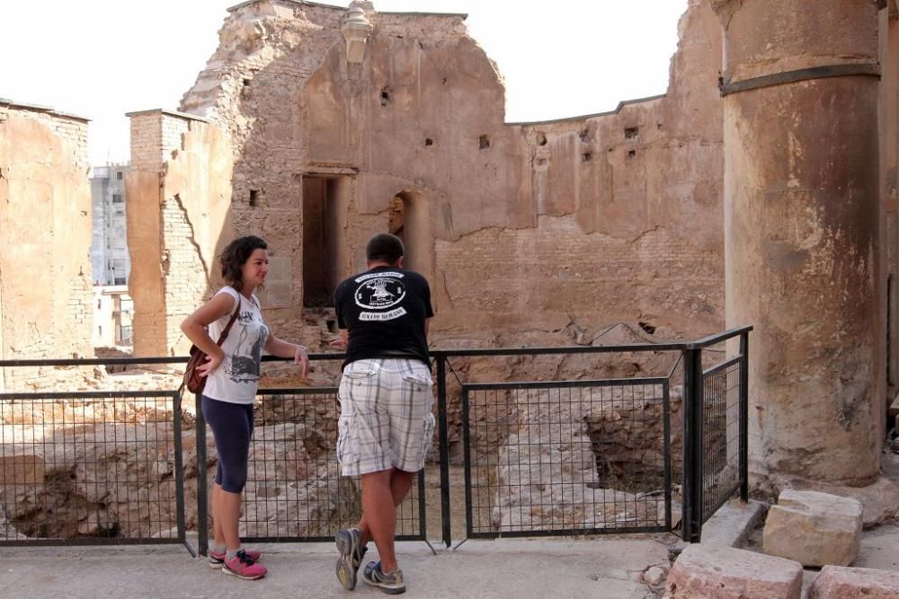
[[218,450],[216,482],[229,493],[246,484],[246,462],[253,436],[253,404],[229,403],[202,396],[203,417],[212,429]]

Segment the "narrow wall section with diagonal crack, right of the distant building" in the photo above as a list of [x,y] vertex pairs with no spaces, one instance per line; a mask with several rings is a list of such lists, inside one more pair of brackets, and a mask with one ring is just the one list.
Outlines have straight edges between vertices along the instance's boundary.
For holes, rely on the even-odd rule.
[[190,115],[130,113],[129,294],[135,355],[180,356],[180,325],[218,280],[214,257],[227,236],[232,170],[227,137]]

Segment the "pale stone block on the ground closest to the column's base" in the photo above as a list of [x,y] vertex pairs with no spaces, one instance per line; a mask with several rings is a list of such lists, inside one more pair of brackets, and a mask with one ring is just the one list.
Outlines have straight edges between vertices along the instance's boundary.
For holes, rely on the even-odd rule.
[[861,525],[856,499],[787,489],[768,510],[762,548],[804,566],[849,566],[859,554]]

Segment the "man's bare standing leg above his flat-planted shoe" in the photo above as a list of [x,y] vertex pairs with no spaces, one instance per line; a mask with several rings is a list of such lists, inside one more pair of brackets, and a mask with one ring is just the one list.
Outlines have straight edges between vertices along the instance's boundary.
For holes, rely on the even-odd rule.
[[[368,528],[369,536],[378,547],[378,557],[382,572],[396,572],[396,505],[408,492],[412,472],[396,469],[362,474],[362,521]],[[396,500],[393,489],[402,495]],[[364,538],[364,537],[363,537]]]

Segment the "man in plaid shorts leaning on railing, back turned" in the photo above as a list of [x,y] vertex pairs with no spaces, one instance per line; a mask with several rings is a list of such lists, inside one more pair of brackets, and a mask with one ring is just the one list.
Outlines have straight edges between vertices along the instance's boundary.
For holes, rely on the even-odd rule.
[[366,248],[368,270],[343,281],[334,309],[346,347],[338,397],[337,459],[343,476],[360,475],[362,518],[337,532],[337,579],[352,590],[369,539],[380,562],[362,579],[389,594],[405,591],[396,564],[396,506],[431,447],[432,379],[428,322],[433,316],[428,282],[403,268],[403,242],[381,233]]

